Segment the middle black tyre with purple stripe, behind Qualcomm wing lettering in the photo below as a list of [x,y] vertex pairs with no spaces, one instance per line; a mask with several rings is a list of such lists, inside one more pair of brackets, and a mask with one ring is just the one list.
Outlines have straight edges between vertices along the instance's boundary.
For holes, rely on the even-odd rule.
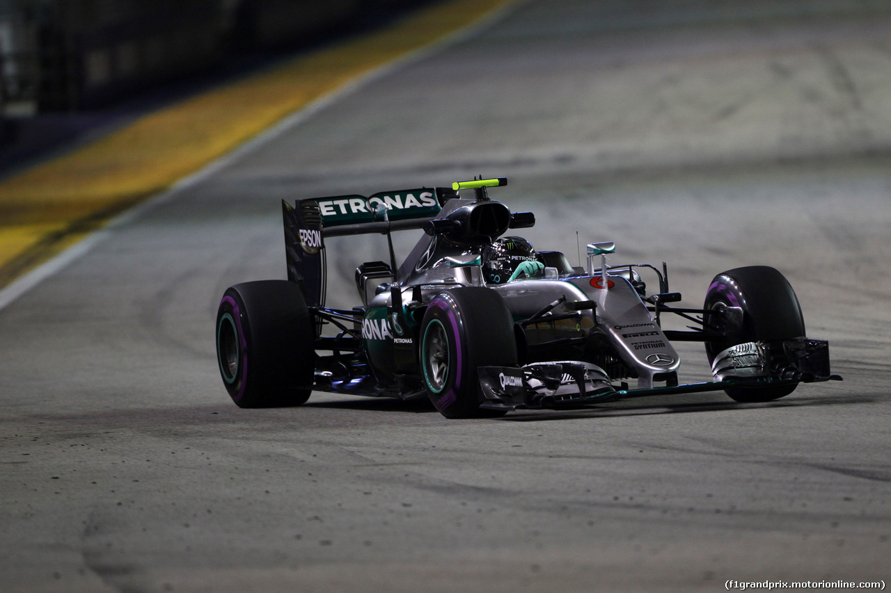
[[430,401],[446,418],[485,418],[480,410],[478,367],[516,366],[513,318],[502,296],[489,288],[454,288],[435,296],[421,322],[421,379]]

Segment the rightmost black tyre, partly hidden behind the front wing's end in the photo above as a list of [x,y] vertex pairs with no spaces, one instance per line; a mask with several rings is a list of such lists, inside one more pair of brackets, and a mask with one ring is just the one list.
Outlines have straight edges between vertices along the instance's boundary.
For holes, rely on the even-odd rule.
[[[742,309],[742,326],[724,340],[706,343],[711,364],[732,345],[805,336],[805,319],[789,280],[772,267],[752,265],[715,276],[708,287],[704,309],[723,305]],[[797,384],[732,387],[724,391],[737,402],[769,402],[792,393]]]

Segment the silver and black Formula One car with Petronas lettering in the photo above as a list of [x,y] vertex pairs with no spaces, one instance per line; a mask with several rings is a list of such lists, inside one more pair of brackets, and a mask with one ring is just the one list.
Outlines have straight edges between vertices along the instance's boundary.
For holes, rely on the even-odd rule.
[[[805,337],[780,272],[723,272],[701,309],[673,307],[681,295],[669,291],[666,264],[608,265],[615,245],[594,242],[586,267],[573,267],[559,251],[503,236],[535,224],[531,212],[489,199],[487,188],[506,183],[282,202],[288,280],[228,288],[217,313],[217,358],[233,401],[298,405],[313,390],[426,395],[444,416],[470,418],[722,389],[766,402],[799,383],[840,379],[828,343]],[[419,229],[397,265],[390,233]],[[326,307],[326,243],[361,233],[386,235],[389,262],[356,268],[361,305]],[[668,313],[691,322],[689,331],[662,329]],[[713,381],[678,383],[677,341],[705,345]]]

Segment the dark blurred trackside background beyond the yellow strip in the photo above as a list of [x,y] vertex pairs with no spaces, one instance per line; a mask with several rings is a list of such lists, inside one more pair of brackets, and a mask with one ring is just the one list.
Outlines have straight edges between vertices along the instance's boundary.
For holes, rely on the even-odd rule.
[[430,0],[7,0],[0,175]]

